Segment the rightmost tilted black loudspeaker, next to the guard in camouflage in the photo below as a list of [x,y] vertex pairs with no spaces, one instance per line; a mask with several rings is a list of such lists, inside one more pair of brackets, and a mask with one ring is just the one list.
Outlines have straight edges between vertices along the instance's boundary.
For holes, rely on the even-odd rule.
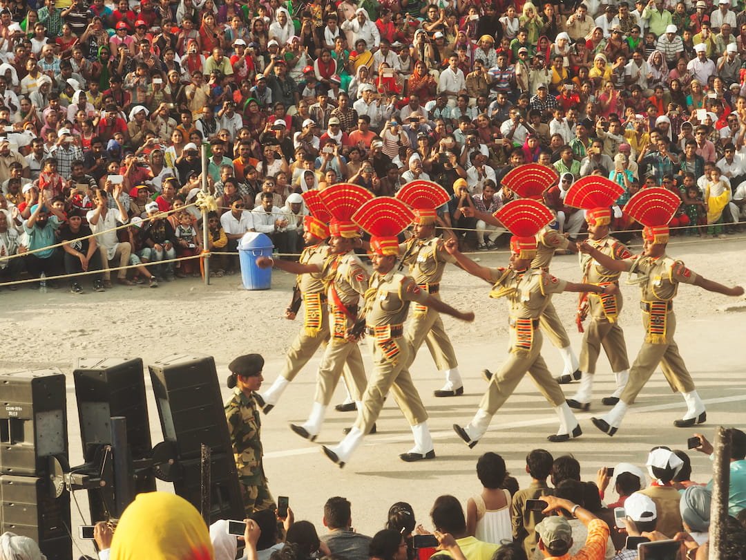
[[[175,454],[177,467],[171,469],[168,479],[174,482],[176,494],[200,509],[200,454],[201,444],[205,444],[212,452],[210,521],[243,519],[241,488],[215,361],[211,356],[175,354],[148,369],[163,438]],[[154,455],[158,455],[157,449]]]

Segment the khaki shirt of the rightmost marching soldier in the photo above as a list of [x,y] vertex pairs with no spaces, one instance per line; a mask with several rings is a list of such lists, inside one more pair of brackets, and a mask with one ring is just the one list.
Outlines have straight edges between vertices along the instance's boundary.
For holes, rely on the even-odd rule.
[[632,265],[630,274],[642,276],[640,290],[644,302],[667,302],[676,297],[679,284],[694,284],[697,275],[668,255],[659,258],[634,255],[624,259]]

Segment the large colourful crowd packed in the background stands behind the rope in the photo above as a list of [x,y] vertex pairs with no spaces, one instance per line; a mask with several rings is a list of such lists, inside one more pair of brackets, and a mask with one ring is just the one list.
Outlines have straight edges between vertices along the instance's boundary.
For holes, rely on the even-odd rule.
[[617,230],[655,185],[680,193],[677,231],[724,237],[746,211],[745,37],[730,0],[4,2],[0,280],[90,269],[104,290],[131,266],[116,281],[157,286],[246,231],[294,253],[296,195],[339,181],[436,181],[462,243],[492,249],[501,231],[461,208],[497,210],[532,162],[560,175],[545,202],[571,237],[564,194],[592,174],[624,188]]

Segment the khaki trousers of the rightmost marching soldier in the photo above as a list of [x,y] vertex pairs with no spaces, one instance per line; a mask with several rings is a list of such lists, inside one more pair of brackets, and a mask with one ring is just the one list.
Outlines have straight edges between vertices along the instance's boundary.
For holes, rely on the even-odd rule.
[[[648,332],[649,320],[650,315],[643,313],[642,323],[645,326],[645,332]],[[637,358],[635,358],[635,362],[632,364],[630,380],[627,382],[627,386],[624,388],[620,397],[627,405],[635,402],[638,393],[645,387],[648,379],[651,379],[658,364],[660,364],[663,375],[666,381],[668,381],[668,385],[671,386],[671,390],[678,391],[679,393],[691,393],[695,391],[695,382],[692,380],[689,370],[686,369],[686,364],[684,364],[684,360],[679,353],[679,346],[674,342],[676,315],[674,315],[673,311],[668,312],[666,323],[665,343],[643,343]]]

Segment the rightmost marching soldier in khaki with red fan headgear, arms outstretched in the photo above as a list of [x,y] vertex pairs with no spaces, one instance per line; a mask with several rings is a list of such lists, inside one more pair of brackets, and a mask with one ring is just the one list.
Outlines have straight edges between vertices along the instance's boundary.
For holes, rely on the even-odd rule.
[[619,402],[607,414],[592,418],[594,425],[608,435],[614,435],[624,415],[635,402],[645,383],[661,364],[663,375],[673,391],[682,394],[686,402],[683,419],[675,420],[677,428],[689,428],[706,421],[704,403],[695,390],[694,381],[686,369],[679,348],[674,341],[676,315],[674,297],[679,284],[694,284],[710,292],[725,296],[742,296],[740,286],[727,287],[699,276],[665,253],[668,243],[668,223],[681,203],[676,193],[651,187],[641,190],[627,202],[624,211],[645,227],[642,230],[642,255],[615,260],[589,243],[582,243],[580,250],[590,255],[601,266],[618,272],[628,271],[640,276],[642,293],[642,324],[645,326],[645,343],[630,369],[630,379],[619,397]]

